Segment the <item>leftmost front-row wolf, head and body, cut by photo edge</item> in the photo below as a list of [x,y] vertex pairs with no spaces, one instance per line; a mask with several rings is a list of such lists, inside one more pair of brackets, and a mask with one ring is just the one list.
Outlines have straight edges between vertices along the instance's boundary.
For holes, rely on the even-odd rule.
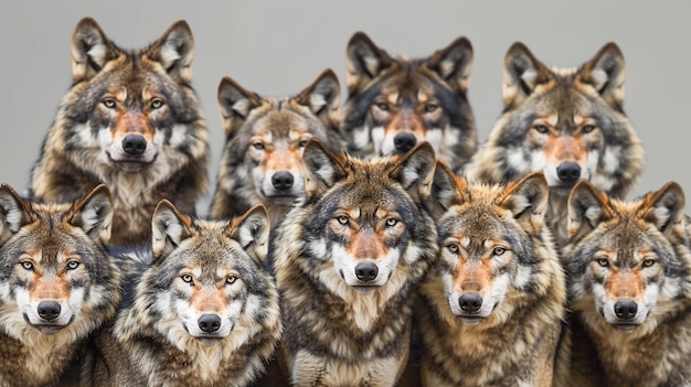
[[120,300],[107,250],[113,213],[103,184],[60,204],[0,186],[0,386],[78,379],[70,364]]

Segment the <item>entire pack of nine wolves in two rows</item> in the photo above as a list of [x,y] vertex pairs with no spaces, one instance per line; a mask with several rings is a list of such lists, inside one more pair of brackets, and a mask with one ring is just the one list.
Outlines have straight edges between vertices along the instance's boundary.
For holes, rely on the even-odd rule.
[[[521,42],[480,142],[474,49],[364,32],[209,129],[177,21],[143,49],[84,18],[30,186],[0,186],[0,386],[691,386],[691,218],[645,163],[615,43]],[[36,147],[39,148],[39,146]]]

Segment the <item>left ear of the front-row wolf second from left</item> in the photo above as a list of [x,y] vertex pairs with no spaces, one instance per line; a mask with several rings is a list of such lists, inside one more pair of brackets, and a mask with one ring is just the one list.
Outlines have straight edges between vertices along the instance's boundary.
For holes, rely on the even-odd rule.
[[151,218],[151,248],[153,258],[169,255],[184,239],[192,236],[192,218],[181,214],[168,200],[161,200]]

